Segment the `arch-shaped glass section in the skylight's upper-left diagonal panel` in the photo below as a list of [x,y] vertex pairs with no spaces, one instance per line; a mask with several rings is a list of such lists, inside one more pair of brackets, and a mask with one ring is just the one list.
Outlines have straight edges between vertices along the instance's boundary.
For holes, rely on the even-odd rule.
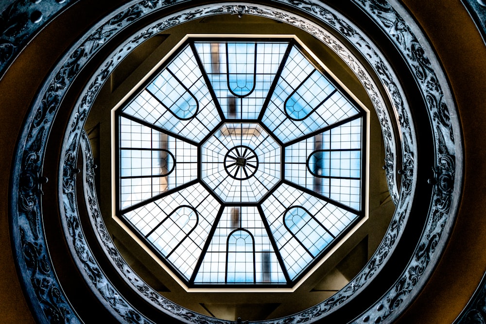
[[165,68],[146,90],[178,119],[188,120],[197,115],[196,97],[169,68]]

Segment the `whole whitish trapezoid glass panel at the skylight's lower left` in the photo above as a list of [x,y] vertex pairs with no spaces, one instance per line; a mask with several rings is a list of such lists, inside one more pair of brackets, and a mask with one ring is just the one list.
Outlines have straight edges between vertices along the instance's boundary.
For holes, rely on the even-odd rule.
[[197,184],[123,216],[189,280],[219,208],[219,203]]

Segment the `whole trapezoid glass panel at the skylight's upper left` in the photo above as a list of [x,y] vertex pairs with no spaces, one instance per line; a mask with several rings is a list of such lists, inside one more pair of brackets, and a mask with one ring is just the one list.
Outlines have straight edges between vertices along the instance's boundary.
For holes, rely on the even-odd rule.
[[221,120],[189,46],[122,111],[192,141]]

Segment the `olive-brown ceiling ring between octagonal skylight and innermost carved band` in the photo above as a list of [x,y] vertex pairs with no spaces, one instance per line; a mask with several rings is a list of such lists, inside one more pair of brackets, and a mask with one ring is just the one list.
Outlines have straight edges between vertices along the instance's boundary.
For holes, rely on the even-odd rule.
[[[332,73],[370,110],[369,145],[369,217],[356,226],[345,241],[305,281],[295,289],[263,290],[251,292],[225,290],[218,292],[186,292],[154,259],[149,249],[141,247],[133,233],[127,233],[120,222],[112,218],[111,189],[111,108],[120,104],[127,93],[133,91],[159,61],[164,58],[186,34],[288,34],[299,39]],[[243,15],[205,17],[184,23],[146,40],[127,56],[111,74],[109,82],[101,89],[90,111],[85,129],[90,138],[97,169],[97,188],[104,222],[117,248],[129,265],[155,290],[175,303],[209,316],[227,320],[238,317],[263,320],[286,316],[330,297],[343,288],[365,265],[375,252],[395,210],[382,169],[384,148],[381,127],[373,105],[355,74],[322,42],[300,29],[278,21]],[[165,269],[164,269],[165,268]],[[298,301],[298,302],[296,302]]]

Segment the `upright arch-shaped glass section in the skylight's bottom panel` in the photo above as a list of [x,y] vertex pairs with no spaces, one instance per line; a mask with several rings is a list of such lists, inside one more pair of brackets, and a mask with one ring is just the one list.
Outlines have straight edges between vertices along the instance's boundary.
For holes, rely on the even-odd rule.
[[255,239],[245,229],[237,229],[226,241],[226,282],[255,282]]

